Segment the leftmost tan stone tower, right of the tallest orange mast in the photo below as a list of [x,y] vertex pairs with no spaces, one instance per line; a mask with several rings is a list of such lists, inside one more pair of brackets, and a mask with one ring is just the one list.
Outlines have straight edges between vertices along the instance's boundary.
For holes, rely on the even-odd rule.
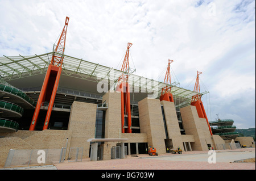
[[73,102],[69,117],[68,131],[71,134],[71,148],[82,147],[83,158],[89,157],[89,138],[94,138],[97,104]]

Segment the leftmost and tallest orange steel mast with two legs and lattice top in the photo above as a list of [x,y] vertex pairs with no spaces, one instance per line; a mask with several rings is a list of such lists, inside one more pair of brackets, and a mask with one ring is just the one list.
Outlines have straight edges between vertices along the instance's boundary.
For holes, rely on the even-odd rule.
[[61,66],[64,58],[65,40],[67,35],[68,22],[69,22],[69,18],[66,17],[65,26],[63,28],[63,31],[61,32],[60,39],[52,54],[51,63],[48,66],[46,77],[44,78],[43,86],[38,98],[38,102],[36,103],[35,112],[32,117],[30,129],[29,129],[30,131],[35,130],[36,122],[38,120],[38,116],[40,112],[40,107],[42,106],[42,103],[44,100],[49,101],[49,106],[47,110],[46,120],[44,121],[43,129],[48,128],[49,118],[51,116],[51,111],[52,111],[57,87],[59,85],[59,80],[60,80]]

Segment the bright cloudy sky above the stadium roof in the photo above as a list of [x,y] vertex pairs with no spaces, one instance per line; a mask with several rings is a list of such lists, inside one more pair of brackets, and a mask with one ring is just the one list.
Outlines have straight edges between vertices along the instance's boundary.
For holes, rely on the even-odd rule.
[[208,119],[255,127],[255,1],[0,0],[0,56],[52,51],[69,16],[65,54],[117,68],[127,48],[136,73],[193,90]]

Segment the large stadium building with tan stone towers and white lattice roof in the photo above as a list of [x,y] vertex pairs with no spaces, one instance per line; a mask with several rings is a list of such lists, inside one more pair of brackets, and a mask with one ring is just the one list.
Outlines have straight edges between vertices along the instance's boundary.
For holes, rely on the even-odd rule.
[[[36,103],[56,55],[63,57],[63,63],[54,103],[50,105],[47,97],[51,94],[46,91],[33,124]],[[111,152],[117,147],[123,158],[123,152],[146,154],[149,146],[163,154],[167,148],[178,146],[184,151],[219,149],[236,139],[212,134],[207,118],[202,118],[196,105],[191,105],[193,96],[201,97],[207,92],[183,89],[176,82],[169,84],[127,74],[57,52],[3,56],[0,62],[1,166],[5,165],[10,149],[66,148],[67,159],[70,148],[82,148],[82,158],[97,160],[111,159]],[[130,105],[125,107],[129,105],[130,114],[123,111],[122,91],[115,89],[123,74],[129,75],[130,91],[126,97],[130,96]],[[53,87],[51,83],[48,86]],[[163,88],[168,86],[173,101],[160,99]],[[45,129],[49,106],[52,110]],[[30,130],[32,124],[34,130]]]

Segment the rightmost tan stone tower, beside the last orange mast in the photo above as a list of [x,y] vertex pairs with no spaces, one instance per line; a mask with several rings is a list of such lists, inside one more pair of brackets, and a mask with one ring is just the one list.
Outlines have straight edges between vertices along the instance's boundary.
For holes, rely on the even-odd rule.
[[213,146],[212,137],[209,132],[207,121],[200,118],[197,114],[195,106],[187,106],[180,108],[183,121],[183,127],[186,134],[194,136],[195,142],[191,142],[192,150],[207,151],[210,144]]

